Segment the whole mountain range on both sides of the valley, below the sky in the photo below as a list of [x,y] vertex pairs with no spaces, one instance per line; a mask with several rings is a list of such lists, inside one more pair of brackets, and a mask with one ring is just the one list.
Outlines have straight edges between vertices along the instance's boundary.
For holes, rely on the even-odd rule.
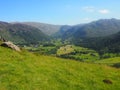
[[[103,46],[107,46],[107,42],[110,38],[114,38],[114,40],[110,42],[116,41],[119,37],[118,32],[120,32],[120,20],[101,19],[91,23],[74,26],[51,25],[36,22],[0,22],[0,36],[15,43],[30,44],[47,40],[48,36],[43,32],[54,38],[70,41],[75,45],[82,45],[83,47],[94,46],[96,50],[100,46],[99,43],[102,43],[102,41],[104,41],[104,43],[100,46],[100,49],[101,47],[103,48]],[[115,36],[117,36],[117,38]],[[97,45],[98,47],[96,47]]]

